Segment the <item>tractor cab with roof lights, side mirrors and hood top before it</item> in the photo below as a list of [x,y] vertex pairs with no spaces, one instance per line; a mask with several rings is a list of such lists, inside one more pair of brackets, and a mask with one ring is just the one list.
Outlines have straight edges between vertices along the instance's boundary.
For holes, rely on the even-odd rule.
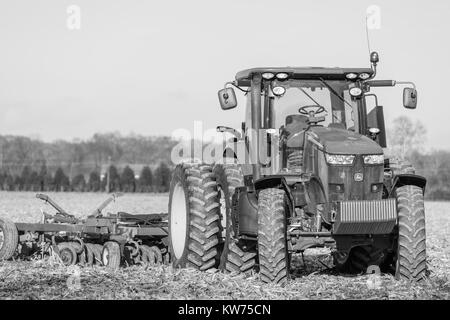
[[[374,96],[369,94],[371,87],[398,82],[372,80],[377,53],[372,53],[371,62],[371,68],[286,67],[238,72],[235,81],[219,91],[219,100],[223,109],[231,109],[237,105],[232,87],[246,92],[246,118],[239,135],[243,146],[235,141],[225,153],[236,157],[253,180],[299,172],[319,175],[317,151],[338,155],[336,164],[345,164],[355,153],[381,159],[386,147],[383,107],[376,105],[368,112],[366,100]],[[414,108],[415,99],[415,87],[406,88],[405,107]],[[248,155],[242,156],[239,150]],[[304,157],[306,150],[312,154]]]

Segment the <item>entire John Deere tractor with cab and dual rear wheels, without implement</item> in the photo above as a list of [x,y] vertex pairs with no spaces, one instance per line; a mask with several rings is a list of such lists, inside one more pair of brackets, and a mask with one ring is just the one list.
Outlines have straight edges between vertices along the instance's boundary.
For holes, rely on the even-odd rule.
[[[330,248],[343,273],[374,266],[398,279],[426,276],[426,179],[387,158],[383,107],[370,68],[255,68],[219,91],[222,109],[247,97],[242,131],[231,133],[223,159],[185,162],[174,172],[169,201],[175,267],[259,271],[265,282],[290,279],[293,253]],[[373,99],[375,98],[375,99]],[[369,102],[372,108],[369,108]],[[370,109],[370,110],[369,110]]]

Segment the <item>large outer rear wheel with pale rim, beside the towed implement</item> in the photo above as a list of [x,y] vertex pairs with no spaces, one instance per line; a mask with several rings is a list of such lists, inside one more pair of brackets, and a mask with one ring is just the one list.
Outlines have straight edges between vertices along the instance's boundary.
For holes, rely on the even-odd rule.
[[174,267],[207,270],[219,264],[218,190],[210,165],[180,164],[169,196],[170,255]]

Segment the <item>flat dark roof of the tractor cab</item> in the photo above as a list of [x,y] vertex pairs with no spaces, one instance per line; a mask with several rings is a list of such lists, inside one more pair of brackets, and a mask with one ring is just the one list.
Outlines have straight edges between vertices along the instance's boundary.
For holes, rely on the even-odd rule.
[[252,77],[265,72],[287,73],[289,79],[297,80],[345,80],[348,73],[368,73],[373,74],[370,68],[322,68],[322,67],[274,67],[274,68],[252,68],[240,71],[236,74],[239,86],[248,87]]

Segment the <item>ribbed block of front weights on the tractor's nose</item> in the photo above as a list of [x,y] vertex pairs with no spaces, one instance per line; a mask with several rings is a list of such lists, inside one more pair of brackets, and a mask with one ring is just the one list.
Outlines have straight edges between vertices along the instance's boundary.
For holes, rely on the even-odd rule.
[[396,223],[395,199],[342,201],[338,205],[333,234],[389,234]]

